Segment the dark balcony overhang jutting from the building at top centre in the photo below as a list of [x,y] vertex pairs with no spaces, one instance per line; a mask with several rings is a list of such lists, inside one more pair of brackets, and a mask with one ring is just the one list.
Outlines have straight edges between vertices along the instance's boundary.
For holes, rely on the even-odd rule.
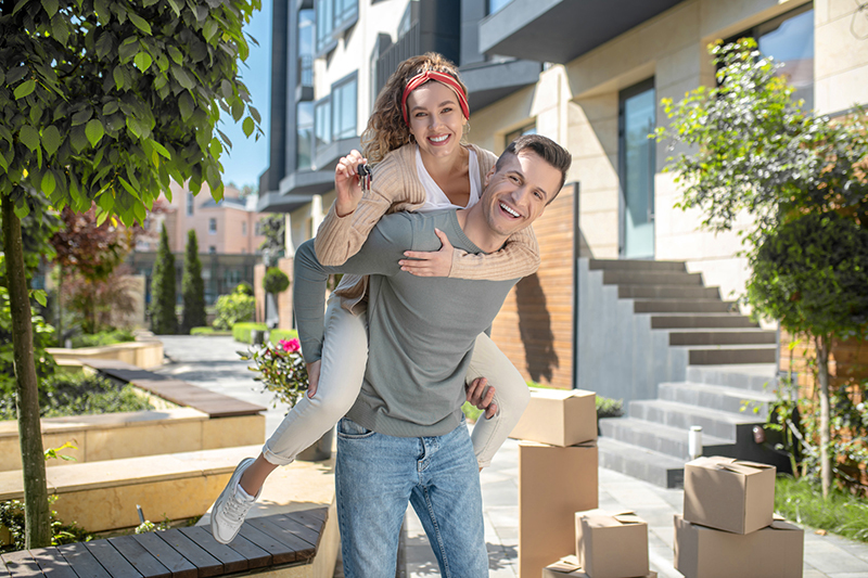
[[565,64],[681,0],[512,0],[480,22],[480,51]]

